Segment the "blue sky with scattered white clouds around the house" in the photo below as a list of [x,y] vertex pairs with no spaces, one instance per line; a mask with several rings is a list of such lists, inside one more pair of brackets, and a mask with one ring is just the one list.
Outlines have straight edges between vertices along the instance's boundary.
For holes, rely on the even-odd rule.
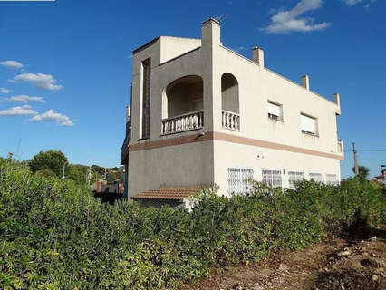
[[[54,149],[119,165],[130,52],[158,35],[198,38],[203,20],[226,14],[226,46],[247,57],[261,46],[268,68],[340,92],[339,137],[373,176],[386,163],[385,11],[381,0],[0,1],[0,156]],[[351,167],[346,152],[343,177]]]

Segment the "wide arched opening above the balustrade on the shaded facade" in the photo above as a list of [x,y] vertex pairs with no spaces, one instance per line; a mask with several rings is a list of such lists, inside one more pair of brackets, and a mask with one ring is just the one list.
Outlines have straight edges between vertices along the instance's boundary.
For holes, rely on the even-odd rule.
[[166,88],[167,118],[204,109],[204,85],[198,75],[188,75],[169,83]]

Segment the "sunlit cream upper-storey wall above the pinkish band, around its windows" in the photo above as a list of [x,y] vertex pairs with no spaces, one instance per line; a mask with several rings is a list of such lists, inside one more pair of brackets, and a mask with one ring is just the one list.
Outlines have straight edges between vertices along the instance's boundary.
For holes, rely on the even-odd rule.
[[[223,73],[232,73],[239,83],[240,127],[239,136],[275,141],[301,148],[338,153],[336,112],[339,107],[331,101],[307,91],[301,85],[288,81],[236,53],[219,47],[217,79]],[[217,88],[218,90],[218,88]],[[217,91],[215,95],[220,92]],[[268,100],[283,106],[284,121],[273,121],[267,116]],[[221,102],[217,98],[217,102]],[[300,114],[317,118],[319,136],[301,132]],[[222,128],[221,112],[214,112],[215,131]]]

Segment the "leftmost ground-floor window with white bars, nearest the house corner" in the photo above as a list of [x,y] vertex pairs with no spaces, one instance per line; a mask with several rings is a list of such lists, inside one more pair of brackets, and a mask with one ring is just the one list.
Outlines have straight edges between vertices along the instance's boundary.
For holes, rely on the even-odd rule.
[[227,169],[228,193],[245,194],[251,189],[250,180],[254,178],[254,169]]

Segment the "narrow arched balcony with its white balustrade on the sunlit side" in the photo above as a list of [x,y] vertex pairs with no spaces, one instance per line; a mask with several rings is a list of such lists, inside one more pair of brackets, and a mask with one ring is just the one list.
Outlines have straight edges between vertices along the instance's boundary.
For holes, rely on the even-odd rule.
[[231,73],[221,76],[221,102],[223,128],[240,131],[238,82]]

